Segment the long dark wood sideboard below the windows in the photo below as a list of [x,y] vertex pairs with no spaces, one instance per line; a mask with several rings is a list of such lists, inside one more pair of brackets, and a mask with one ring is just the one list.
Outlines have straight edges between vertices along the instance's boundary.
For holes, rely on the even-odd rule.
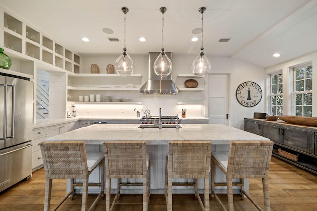
[[244,118],[244,130],[272,140],[273,156],[317,174],[317,127]]

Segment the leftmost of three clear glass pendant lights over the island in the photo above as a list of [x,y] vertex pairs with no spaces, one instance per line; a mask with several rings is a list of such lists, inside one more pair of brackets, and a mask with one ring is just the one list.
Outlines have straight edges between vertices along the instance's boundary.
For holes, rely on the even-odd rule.
[[124,13],[124,48],[122,55],[115,61],[114,69],[120,76],[130,76],[133,73],[134,64],[125,48],[125,15],[128,13],[129,9],[122,7],[121,10]]

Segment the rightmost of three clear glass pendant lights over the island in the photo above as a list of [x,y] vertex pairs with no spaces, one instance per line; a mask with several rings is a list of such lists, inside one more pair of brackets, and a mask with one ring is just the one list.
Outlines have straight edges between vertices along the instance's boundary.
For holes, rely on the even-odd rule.
[[196,76],[206,76],[211,70],[211,63],[208,58],[204,55],[204,47],[203,47],[203,13],[205,12],[206,8],[201,7],[199,8],[199,12],[202,14],[202,47],[200,48],[201,52],[193,61],[192,64],[192,71],[193,74]]

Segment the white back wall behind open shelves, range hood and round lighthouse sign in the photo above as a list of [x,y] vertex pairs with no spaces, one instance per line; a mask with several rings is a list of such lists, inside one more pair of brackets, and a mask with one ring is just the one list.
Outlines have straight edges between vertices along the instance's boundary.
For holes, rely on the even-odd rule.
[[[130,55],[135,64],[134,73],[141,73],[143,85],[148,79],[148,54]],[[100,73],[106,73],[107,64],[114,64],[119,55],[104,56],[81,56],[81,73],[90,73],[91,64],[98,64]],[[173,54],[173,81],[177,79],[179,73],[191,74],[191,64],[196,56]],[[229,74],[230,75],[230,126],[239,129],[244,128],[244,118],[253,117],[253,112],[265,112],[265,71],[264,68],[250,64],[248,62],[232,59],[230,57],[209,57],[211,61],[211,74]],[[197,79],[200,83],[206,83],[206,79]],[[263,97],[260,103],[254,107],[247,108],[238,103],[235,97],[236,88],[243,82],[253,81],[261,86]],[[159,114],[159,108],[162,108],[163,115],[181,114],[181,109],[187,109],[187,117],[207,117],[205,105],[177,105],[178,100],[182,99],[202,99],[207,103],[207,88],[204,92],[180,92],[177,95],[144,95],[131,92],[132,97],[139,97],[142,105],[132,106],[112,106],[112,105],[78,105],[76,111],[82,116],[135,116],[134,108],[141,110],[149,109],[152,115]],[[137,96],[136,96],[137,95]],[[88,112],[87,112],[88,111]],[[142,113],[141,113],[142,116]]]

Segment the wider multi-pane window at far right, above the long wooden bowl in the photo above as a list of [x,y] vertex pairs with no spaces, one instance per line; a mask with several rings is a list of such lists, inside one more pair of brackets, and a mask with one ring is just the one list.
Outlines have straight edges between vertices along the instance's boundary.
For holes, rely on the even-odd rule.
[[296,116],[312,116],[313,66],[294,67],[293,108]]

